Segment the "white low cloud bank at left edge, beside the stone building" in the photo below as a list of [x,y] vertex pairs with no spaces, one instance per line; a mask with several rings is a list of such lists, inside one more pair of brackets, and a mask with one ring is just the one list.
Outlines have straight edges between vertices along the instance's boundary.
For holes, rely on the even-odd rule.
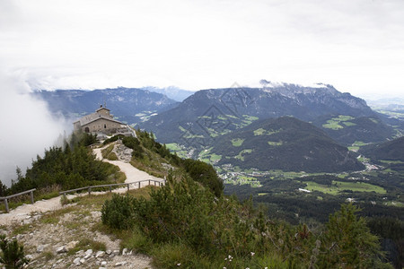
[[17,166],[25,172],[69,126],[65,119],[52,117],[44,101],[30,95],[22,75],[0,70],[0,92],[0,180],[10,186]]

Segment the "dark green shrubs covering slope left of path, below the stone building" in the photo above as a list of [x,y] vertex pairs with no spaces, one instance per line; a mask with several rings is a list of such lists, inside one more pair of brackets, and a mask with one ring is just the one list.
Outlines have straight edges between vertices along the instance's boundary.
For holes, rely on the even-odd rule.
[[92,134],[72,134],[64,147],[51,147],[44,156],[32,161],[31,169],[18,178],[5,192],[14,194],[31,188],[71,189],[91,185],[117,183],[125,180],[125,175],[114,165],[98,161],[87,146],[96,142]]

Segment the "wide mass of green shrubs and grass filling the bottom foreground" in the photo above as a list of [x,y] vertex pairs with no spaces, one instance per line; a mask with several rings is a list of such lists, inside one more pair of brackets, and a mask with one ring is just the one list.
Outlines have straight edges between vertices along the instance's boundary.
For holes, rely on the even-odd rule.
[[149,199],[114,195],[101,220],[126,230],[123,247],[154,256],[158,268],[391,268],[356,212],[343,204],[312,230],[269,220],[250,200],[217,198],[190,178],[170,177]]

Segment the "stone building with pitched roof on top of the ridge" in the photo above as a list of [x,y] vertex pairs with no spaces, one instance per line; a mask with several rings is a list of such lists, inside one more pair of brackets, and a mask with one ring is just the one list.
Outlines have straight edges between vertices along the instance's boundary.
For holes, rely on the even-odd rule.
[[75,131],[92,134],[124,134],[136,136],[135,131],[110,115],[110,109],[102,105],[94,113],[86,115],[73,123]]

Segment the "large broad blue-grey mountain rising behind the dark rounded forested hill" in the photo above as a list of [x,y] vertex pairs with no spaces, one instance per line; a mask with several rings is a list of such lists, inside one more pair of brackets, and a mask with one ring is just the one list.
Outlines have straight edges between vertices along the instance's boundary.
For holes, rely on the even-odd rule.
[[198,147],[254,120],[283,116],[312,122],[345,145],[382,142],[395,134],[364,100],[324,84],[197,91],[140,126],[153,131],[162,143],[180,141]]

